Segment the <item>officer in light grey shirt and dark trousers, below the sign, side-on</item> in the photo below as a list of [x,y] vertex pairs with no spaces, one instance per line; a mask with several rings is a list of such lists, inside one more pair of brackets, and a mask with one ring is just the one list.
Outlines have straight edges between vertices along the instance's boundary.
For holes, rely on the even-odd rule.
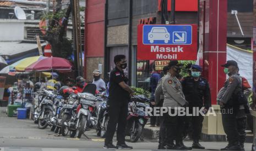
[[[166,149],[176,150],[191,150],[191,147],[184,146],[183,144],[183,127],[186,117],[175,115],[175,108],[186,107],[188,102],[185,100],[185,96],[182,92],[182,86],[176,76],[181,71],[181,65],[177,60],[172,60],[168,64],[169,72],[162,79],[162,90],[164,92],[164,104],[163,107],[168,108],[172,116],[169,113],[164,113],[164,121],[167,133],[167,146]],[[174,145],[173,140],[176,140]]]

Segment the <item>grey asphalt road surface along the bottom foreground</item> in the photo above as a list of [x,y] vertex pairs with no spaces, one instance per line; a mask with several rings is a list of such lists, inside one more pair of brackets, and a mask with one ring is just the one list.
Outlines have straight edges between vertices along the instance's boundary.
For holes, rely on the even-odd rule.
[[[50,127],[44,130],[37,128],[32,120],[18,120],[17,118],[7,117],[4,113],[6,108],[0,107],[0,148],[3,150],[104,150],[104,139],[96,136],[95,130],[86,132],[82,138],[70,138],[56,136],[56,133],[50,131]],[[115,138],[113,140],[114,144]],[[134,150],[156,150],[157,140],[144,140],[137,143],[130,143]],[[191,146],[192,142],[185,142],[187,146]],[[206,147],[205,150],[219,150],[226,146],[226,142],[201,142]],[[246,150],[251,149],[252,144],[246,144]],[[194,150],[194,149],[193,149]]]

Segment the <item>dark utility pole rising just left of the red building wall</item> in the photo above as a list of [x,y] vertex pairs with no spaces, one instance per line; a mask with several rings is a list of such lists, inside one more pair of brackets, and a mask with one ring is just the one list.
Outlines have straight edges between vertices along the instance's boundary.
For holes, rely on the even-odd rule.
[[72,2],[72,24],[73,24],[73,43],[74,43],[74,62],[75,76],[83,74],[82,55],[81,55],[81,23],[79,0],[70,0]]

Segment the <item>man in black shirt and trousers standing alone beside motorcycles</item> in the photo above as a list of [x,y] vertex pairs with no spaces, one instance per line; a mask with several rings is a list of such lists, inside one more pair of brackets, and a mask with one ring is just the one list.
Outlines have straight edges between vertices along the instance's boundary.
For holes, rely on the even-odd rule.
[[[108,114],[110,119],[107,124],[106,149],[132,149],[125,143],[126,118],[128,114],[128,102],[133,90],[128,86],[128,78],[123,69],[127,68],[127,60],[124,55],[114,57],[116,67],[110,72],[110,89],[108,96]],[[117,126],[118,124],[118,126]],[[117,126],[117,146],[112,144]]]

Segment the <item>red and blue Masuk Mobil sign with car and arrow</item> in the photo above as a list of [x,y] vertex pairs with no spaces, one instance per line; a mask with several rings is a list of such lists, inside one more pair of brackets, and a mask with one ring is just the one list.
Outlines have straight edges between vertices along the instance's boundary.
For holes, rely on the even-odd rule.
[[139,60],[197,60],[197,25],[138,25]]

